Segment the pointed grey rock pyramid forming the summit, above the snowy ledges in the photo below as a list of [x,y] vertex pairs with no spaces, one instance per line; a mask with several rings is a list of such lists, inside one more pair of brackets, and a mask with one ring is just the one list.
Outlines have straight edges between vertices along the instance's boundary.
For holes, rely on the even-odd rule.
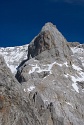
[[[47,51],[46,51],[47,50]],[[46,51],[46,52],[44,52]],[[71,49],[57,28],[52,23],[47,23],[41,32],[33,39],[28,46],[28,59],[36,57],[43,59],[40,53],[44,52],[47,56],[54,56],[61,61],[71,60]],[[43,55],[44,55],[43,54]],[[44,56],[46,56],[44,55]]]

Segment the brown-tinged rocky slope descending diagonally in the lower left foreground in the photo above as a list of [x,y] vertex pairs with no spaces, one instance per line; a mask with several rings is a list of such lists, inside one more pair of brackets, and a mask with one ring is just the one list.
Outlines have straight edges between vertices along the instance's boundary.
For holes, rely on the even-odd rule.
[[34,111],[21,85],[0,56],[0,125],[26,124],[39,125],[39,120],[34,118]]

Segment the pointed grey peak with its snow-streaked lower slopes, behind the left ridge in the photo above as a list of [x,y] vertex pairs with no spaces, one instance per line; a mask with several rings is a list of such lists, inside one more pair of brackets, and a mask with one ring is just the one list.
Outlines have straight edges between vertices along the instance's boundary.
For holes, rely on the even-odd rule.
[[84,69],[66,39],[47,23],[28,49],[28,60],[16,78],[28,95],[40,93],[50,114],[46,125],[83,125]]

